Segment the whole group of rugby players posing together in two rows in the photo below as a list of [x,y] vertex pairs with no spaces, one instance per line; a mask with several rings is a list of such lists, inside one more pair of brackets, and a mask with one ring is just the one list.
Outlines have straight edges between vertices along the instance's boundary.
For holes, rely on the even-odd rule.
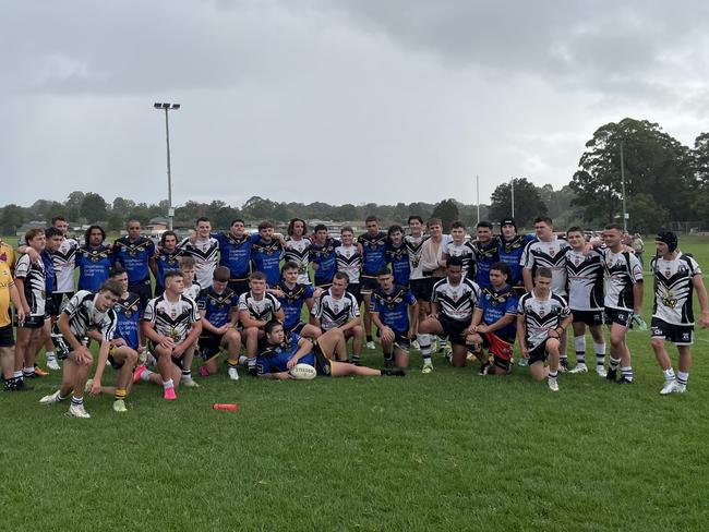
[[[408,231],[395,225],[384,232],[375,217],[365,225],[359,237],[345,227],[334,239],[323,225],[308,234],[299,218],[287,235],[275,233],[269,222],[250,234],[241,219],[228,232],[213,232],[209,220],[200,218],[190,238],[179,241],[166,231],[156,246],[137,221],[109,244],[99,226],[86,230],[84,242],[64,238],[67,221],[55,218],[51,228],[29,230],[20,242],[14,276],[13,250],[3,244],[4,388],[27,389],[26,379],[46,374],[36,364],[43,347],[47,367],[59,370],[58,361],[63,367],[60,388],[40,402],[71,396],[69,414],[88,418],[84,392],[110,394],[113,409],[124,412],[125,397],[140,382],[160,386],[167,400],[177,398],[180,384],[199,386],[191,373],[195,354],[200,375],[207,377],[218,372],[226,351],[232,380],[240,365],[252,375],[286,379],[299,363],[319,375],[404,375],[412,344],[421,352],[422,373],[433,372],[437,343],[456,367],[477,359],[481,374],[506,375],[517,340],[519,365],[529,364],[532,378],[546,379],[556,391],[558,373],[588,371],[587,327],[598,375],[633,383],[626,334],[634,323],[647,327],[642,266],[623,244],[621,227],[609,225],[599,241],[587,241],[579,227],[560,238],[543,217],[534,221],[534,235],[519,234],[512,218],[501,221],[498,235],[492,223],[479,222],[472,238],[461,222],[446,234],[441,220],[424,226],[419,216],[409,217]],[[659,233],[656,246],[651,346],[665,377],[661,394],[668,395],[686,390],[693,292],[701,327],[709,326],[709,305],[701,270],[678,250],[676,235]],[[608,368],[603,324],[610,328]],[[566,354],[569,327],[573,368]],[[360,365],[363,346],[375,349],[375,337],[384,370]],[[676,374],[665,340],[677,346]],[[98,343],[96,361],[92,341]],[[104,385],[108,365],[116,370],[115,386]]]

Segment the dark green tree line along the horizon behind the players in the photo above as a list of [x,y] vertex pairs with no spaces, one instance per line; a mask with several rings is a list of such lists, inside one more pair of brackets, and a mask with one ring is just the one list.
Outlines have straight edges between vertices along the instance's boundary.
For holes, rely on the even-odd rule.
[[[490,205],[480,206],[481,219],[497,221],[514,213],[518,226],[530,227],[536,216],[548,215],[556,227],[582,220],[588,227],[622,221],[622,192],[625,181],[628,227],[650,232],[670,221],[693,222],[702,227],[709,219],[709,133],[701,133],[688,147],[647,120],[626,118],[600,126],[586,143],[578,170],[570,182],[555,191],[552,185],[537,186],[517,177],[497,185]],[[623,162],[623,164],[621,164]],[[109,230],[121,229],[130,219],[147,223],[167,215],[167,200],[157,204],[136,203],[116,197],[111,203],[95,192],[74,191],[64,202],[37,200],[28,207],[10,204],[0,208],[0,232],[14,233],[22,223],[48,221],[55,216],[83,223],[101,222]],[[310,204],[274,202],[250,197],[241,206],[215,200],[190,201],[176,208],[176,220],[192,223],[208,216],[215,227],[228,227],[233,218],[287,221],[292,217],[334,221],[362,220],[374,215],[385,221],[405,221],[409,215],[424,219],[438,217],[447,227],[460,219],[468,226],[478,220],[478,206],[455,198],[437,204],[414,202],[396,205]]]

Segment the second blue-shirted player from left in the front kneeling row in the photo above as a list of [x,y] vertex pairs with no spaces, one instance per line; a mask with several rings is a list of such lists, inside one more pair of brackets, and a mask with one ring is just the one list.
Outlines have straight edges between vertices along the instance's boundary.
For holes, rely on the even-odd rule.
[[226,348],[229,353],[227,364],[231,380],[239,380],[237,365],[241,349],[241,335],[236,329],[239,319],[239,298],[228,287],[230,270],[226,266],[217,266],[214,270],[212,286],[200,292],[197,307],[202,316],[202,335],[200,336],[200,353],[204,364],[200,375],[206,377],[219,370],[219,350]]

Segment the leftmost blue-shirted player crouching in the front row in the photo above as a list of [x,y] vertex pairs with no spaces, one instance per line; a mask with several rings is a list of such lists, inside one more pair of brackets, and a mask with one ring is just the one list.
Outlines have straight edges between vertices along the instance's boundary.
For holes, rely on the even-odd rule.
[[139,351],[142,351],[139,335],[141,322],[141,298],[128,291],[128,274],[119,264],[109,273],[110,278],[121,285],[120,300],[113,305],[116,313],[116,332],[110,341],[108,362],[118,372],[116,386],[101,386],[101,377],[106,367],[106,360],[99,360],[96,365],[94,378],[86,382],[86,391],[91,396],[108,394],[116,397],[113,410],[127,412],[125,397],[131,391],[133,384],[133,370],[137,363]]

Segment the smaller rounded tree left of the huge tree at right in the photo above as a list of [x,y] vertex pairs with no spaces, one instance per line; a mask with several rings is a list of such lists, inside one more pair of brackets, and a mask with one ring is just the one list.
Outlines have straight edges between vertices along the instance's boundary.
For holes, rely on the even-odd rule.
[[[518,227],[529,227],[536,217],[546,215],[546,204],[539,189],[528,179],[515,178],[512,181],[515,184],[515,220]],[[512,216],[512,183],[498,184],[493,191],[489,216],[492,221]]]

